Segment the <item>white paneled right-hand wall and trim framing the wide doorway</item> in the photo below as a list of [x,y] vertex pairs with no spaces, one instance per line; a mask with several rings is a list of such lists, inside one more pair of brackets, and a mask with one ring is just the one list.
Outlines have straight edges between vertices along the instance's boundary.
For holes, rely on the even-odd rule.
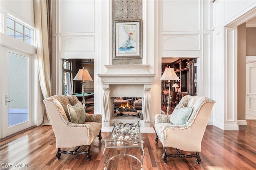
[[238,130],[237,26],[253,16],[256,16],[255,0],[216,0],[213,3],[212,86],[216,100],[213,124],[224,130]]

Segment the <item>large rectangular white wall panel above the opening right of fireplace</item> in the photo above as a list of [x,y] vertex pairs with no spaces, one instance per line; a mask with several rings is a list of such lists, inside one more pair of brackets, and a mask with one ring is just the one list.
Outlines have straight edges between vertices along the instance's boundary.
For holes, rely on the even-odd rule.
[[200,0],[164,0],[162,15],[162,31],[200,30]]

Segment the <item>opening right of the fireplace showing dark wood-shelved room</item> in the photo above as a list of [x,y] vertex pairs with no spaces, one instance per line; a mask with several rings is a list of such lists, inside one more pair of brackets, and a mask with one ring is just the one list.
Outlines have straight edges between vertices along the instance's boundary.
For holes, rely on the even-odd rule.
[[172,113],[180,99],[185,95],[196,95],[196,58],[162,58],[162,74],[166,68],[174,68],[179,80],[162,81],[162,114],[167,114],[169,84],[170,111]]

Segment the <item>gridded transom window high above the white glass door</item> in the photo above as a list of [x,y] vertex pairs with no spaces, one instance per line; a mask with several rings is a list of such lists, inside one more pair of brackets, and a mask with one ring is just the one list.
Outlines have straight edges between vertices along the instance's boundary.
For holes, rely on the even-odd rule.
[[9,17],[7,17],[7,35],[32,44],[32,30]]

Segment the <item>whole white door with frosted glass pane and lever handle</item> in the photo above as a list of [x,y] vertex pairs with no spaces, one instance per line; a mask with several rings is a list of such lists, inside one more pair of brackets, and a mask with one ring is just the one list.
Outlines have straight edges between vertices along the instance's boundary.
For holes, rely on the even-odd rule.
[[1,47],[0,138],[32,126],[33,57],[34,55]]

